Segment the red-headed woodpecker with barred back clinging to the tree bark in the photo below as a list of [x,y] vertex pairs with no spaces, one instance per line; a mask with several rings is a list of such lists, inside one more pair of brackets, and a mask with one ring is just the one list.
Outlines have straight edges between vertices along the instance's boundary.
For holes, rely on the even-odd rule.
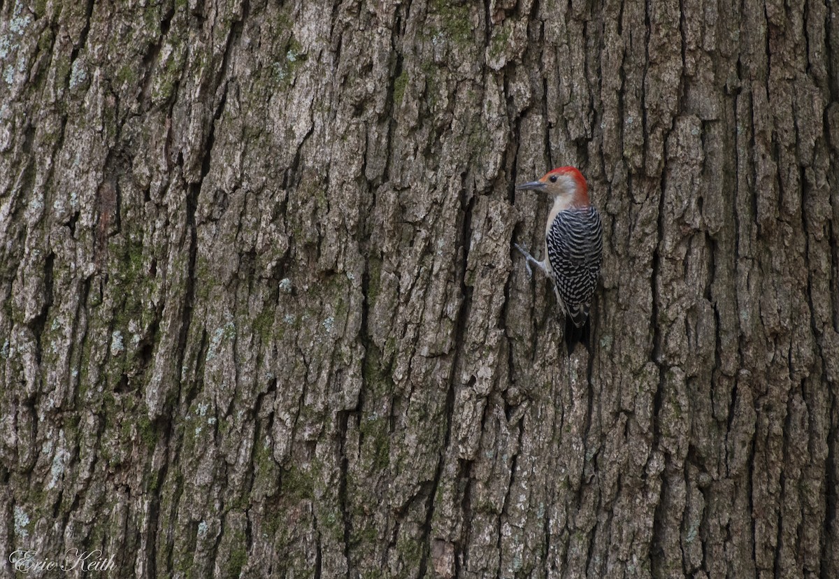
[[549,171],[516,189],[544,191],[554,198],[545,226],[545,258],[539,261],[518,243],[513,245],[524,255],[529,275],[533,274],[529,263],[534,263],[554,280],[556,300],[565,312],[565,346],[571,356],[578,342],[588,348],[588,311],[603,257],[600,213],[588,200],[586,179],[575,167]]

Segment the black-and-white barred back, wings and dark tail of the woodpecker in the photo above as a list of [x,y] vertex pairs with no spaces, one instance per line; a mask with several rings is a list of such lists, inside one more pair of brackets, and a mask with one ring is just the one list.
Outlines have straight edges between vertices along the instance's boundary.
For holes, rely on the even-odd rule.
[[560,211],[550,225],[545,242],[556,295],[571,321],[566,328],[571,352],[576,342],[567,336],[568,330],[586,325],[591,298],[597,289],[603,251],[600,214],[592,206]]

